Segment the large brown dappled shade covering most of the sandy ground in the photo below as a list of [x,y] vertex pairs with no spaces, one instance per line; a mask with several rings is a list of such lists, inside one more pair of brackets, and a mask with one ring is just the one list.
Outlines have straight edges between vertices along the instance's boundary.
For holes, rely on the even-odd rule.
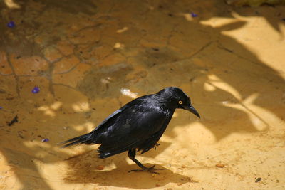
[[[188,176],[172,172],[160,164],[157,167],[166,170],[159,176],[144,172],[129,174],[128,170],[137,166],[125,161],[125,153],[100,160],[95,151],[87,152],[84,147],[85,154],[78,153],[78,157],[68,159],[71,155],[56,147],[58,142],[89,132],[90,123],[95,127],[131,100],[121,94],[121,88],[145,95],[173,85],[190,95],[202,119],[178,111],[165,132],[165,136],[173,141],[179,135],[175,133],[175,127],[194,122],[212,132],[216,142],[236,132],[270,130],[268,122],[248,105],[284,119],[284,110],[276,108],[270,101],[276,99],[277,105],[285,102],[284,98],[280,99],[285,92],[285,81],[279,71],[223,33],[240,29],[247,22],[234,21],[219,27],[199,23],[214,16],[234,18],[234,12],[239,16],[261,16],[280,32],[281,18],[284,18],[282,8],[232,8],[221,1],[201,5],[186,1],[175,4],[164,1],[122,1],[116,4],[110,1],[111,6],[102,1],[86,1],[84,4],[45,1],[38,6],[33,1],[19,1],[19,4],[22,9],[13,11],[1,5],[4,19],[0,21],[0,31],[4,35],[1,35],[0,47],[8,61],[5,62],[3,56],[0,95],[1,103],[9,110],[1,118],[0,132],[6,142],[1,141],[0,147],[1,154],[24,189],[51,189],[46,182],[51,176],[44,176],[36,162],[58,164],[63,161],[68,165],[63,180],[71,184],[146,189],[191,182]],[[124,14],[121,14],[122,9]],[[279,12],[275,13],[275,9]],[[188,18],[185,14],[190,11],[195,11],[198,17],[185,19]],[[47,16],[50,12],[57,16],[57,21]],[[274,14],[276,16],[272,16]],[[16,22],[16,28],[6,27],[10,20]],[[118,31],[124,27],[128,30]],[[47,48],[56,52],[56,56],[48,56]],[[31,75],[19,72],[30,70],[25,66],[15,70],[21,65],[21,58],[29,56],[41,57],[47,66],[36,70],[35,75],[33,72],[36,71],[31,71]],[[69,60],[62,63],[65,58],[74,58],[78,63],[69,63]],[[19,63],[14,62],[16,60]],[[61,66],[66,70],[61,70]],[[16,85],[11,85],[8,80]],[[25,83],[38,85],[42,83],[40,80],[46,82],[35,98],[30,93],[31,86]],[[71,80],[75,84],[71,85]],[[49,105],[54,102],[63,105],[53,110]],[[81,109],[78,102],[87,102],[88,109]],[[49,107],[43,107],[45,111],[38,110],[44,105]],[[74,105],[79,107],[78,111],[74,110]],[[46,114],[51,111],[53,117]],[[5,122],[15,113],[18,113],[20,122],[7,128]],[[15,138],[19,131],[22,137]],[[13,142],[7,143],[10,137]],[[41,143],[42,137],[48,137],[50,142]],[[155,158],[170,147],[170,142],[160,144],[156,151],[152,149],[142,157]],[[98,165],[104,165],[105,170],[95,170]],[[110,174],[115,179],[110,180]]]

